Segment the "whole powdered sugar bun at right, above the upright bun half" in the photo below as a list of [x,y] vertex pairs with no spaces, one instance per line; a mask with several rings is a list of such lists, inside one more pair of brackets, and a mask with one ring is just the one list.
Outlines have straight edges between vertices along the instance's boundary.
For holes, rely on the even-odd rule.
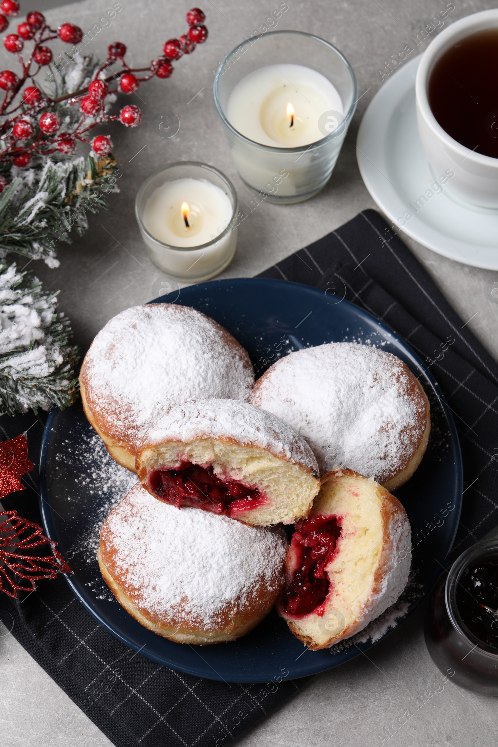
[[249,402],[290,423],[314,451],[320,472],[334,464],[388,490],[408,480],[425,453],[429,400],[396,356],[337,342],[278,360]]

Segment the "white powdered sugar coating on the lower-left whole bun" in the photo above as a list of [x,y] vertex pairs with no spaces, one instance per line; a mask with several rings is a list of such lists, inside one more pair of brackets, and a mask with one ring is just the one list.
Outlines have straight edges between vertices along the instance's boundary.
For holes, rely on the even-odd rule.
[[113,509],[102,535],[114,577],[135,604],[164,619],[216,627],[228,604],[243,610],[258,587],[278,590],[287,539],[199,509],[176,509],[139,484]]

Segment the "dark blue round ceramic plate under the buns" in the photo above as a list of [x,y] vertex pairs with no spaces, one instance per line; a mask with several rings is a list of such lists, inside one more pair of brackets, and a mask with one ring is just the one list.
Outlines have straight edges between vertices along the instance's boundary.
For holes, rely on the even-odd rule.
[[[438,383],[411,348],[358,306],[296,283],[236,279],[193,285],[159,299],[192,306],[226,327],[249,351],[257,375],[277,357],[302,347],[362,341],[395,353],[420,378],[432,408],[432,436],[414,477],[396,496],[408,512],[414,545],[411,591],[402,614],[419,604],[452,547],[461,508],[462,466],[458,436]],[[387,634],[376,625],[372,638],[356,645],[308,651],[275,612],[233,643],[190,646],[156,636],[114,600],[99,573],[99,525],[128,489],[130,473],[107,456],[81,406],[49,416],[41,453],[40,507],[43,525],[74,573],[66,580],[87,610],[130,648],[158,663],[213,680],[267,682],[283,672],[313,675],[367,651]],[[88,455],[93,456],[88,456]],[[386,627],[386,626],[384,626]]]

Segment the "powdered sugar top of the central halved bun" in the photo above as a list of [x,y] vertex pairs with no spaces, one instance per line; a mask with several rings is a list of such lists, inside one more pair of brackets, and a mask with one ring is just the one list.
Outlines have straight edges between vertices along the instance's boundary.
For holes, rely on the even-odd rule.
[[232,438],[318,473],[311,448],[293,427],[264,409],[236,400],[197,400],[173,407],[149,431],[144,443],[196,438]]

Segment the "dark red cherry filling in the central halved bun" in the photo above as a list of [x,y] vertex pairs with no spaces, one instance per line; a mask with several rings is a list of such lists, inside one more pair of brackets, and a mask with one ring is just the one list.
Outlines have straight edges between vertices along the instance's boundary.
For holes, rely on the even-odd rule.
[[160,469],[149,474],[149,486],[156,498],[178,509],[195,506],[205,511],[232,516],[267,503],[257,488],[237,480],[222,480],[212,467],[205,469],[182,462],[175,469]]

